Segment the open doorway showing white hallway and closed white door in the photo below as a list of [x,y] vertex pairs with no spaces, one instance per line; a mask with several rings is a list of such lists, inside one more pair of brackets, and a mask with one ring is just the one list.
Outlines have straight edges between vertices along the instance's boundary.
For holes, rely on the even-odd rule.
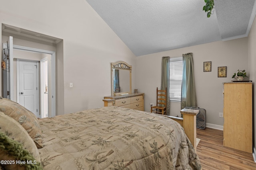
[[16,77],[17,82],[14,81],[14,91],[17,89],[17,97],[14,96],[14,100],[17,98],[17,103],[36,117],[48,117],[48,77],[51,77],[48,76],[48,58],[51,55],[14,50],[15,56],[32,60],[16,59],[17,67],[14,64],[14,70],[17,70],[17,74],[14,73],[14,79]]

